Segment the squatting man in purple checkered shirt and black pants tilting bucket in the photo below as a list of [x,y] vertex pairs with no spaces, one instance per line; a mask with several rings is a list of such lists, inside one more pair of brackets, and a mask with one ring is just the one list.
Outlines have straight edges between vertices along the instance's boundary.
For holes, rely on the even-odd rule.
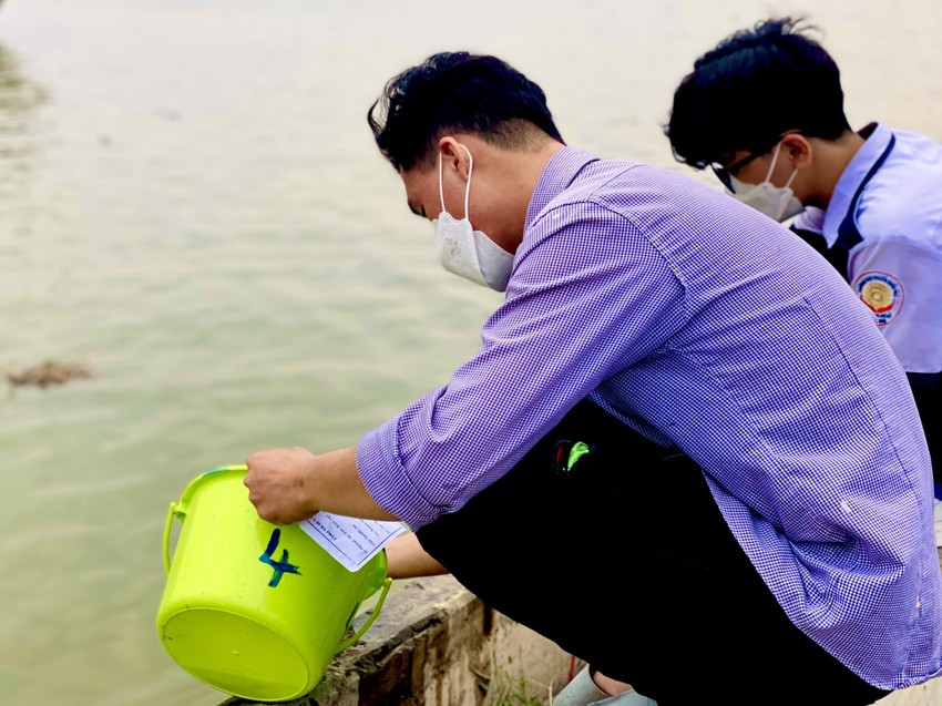
[[659,706],[862,705],[942,674],[925,438],[823,258],[685,175],[565,145],[494,57],[430,57],[369,120],[444,267],[505,299],[356,447],[249,456],[262,518],[403,521]]

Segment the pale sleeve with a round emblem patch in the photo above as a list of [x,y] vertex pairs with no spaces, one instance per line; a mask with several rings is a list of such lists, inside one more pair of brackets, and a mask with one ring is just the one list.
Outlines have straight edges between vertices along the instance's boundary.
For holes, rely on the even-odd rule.
[[942,370],[942,255],[905,236],[868,236],[848,270],[907,372]]

